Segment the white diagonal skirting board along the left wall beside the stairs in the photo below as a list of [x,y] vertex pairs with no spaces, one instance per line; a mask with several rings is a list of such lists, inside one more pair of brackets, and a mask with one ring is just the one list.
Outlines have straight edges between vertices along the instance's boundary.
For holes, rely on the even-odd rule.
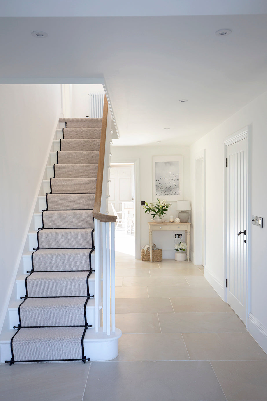
[[[59,119],[59,117],[58,117],[58,119]],[[56,123],[54,124],[54,127],[52,129],[52,135],[50,137],[48,151],[46,152],[46,157],[44,158],[44,164],[42,166],[42,170],[41,170],[41,173],[40,173],[40,176],[39,176],[39,179],[38,179],[38,185],[36,186],[36,192],[34,194],[34,199],[33,199],[33,202],[32,202],[32,207],[31,207],[30,213],[28,215],[28,221],[27,221],[26,228],[25,228],[25,231],[24,231],[24,235],[23,235],[23,238],[22,238],[22,241],[21,241],[21,247],[20,247],[20,250],[18,252],[18,257],[17,257],[17,260],[16,260],[14,273],[13,273],[12,279],[10,281],[10,286],[8,288],[8,293],[6,295],[6,301],[5,301],[5,303],[4,303],[3,307],[2,307],[2,314],[0,316],[0,332],[2,331],[4,320],[5,320],[5,317],[6,317],[6,313],[8,311],[8,305],[9,305],[10,298],[11,298],[11,295],[12,295],[12,291],[13,291],[13,288],[14,288],[14,285],[15,285],[15,282],[16,282],[16,276],[18,274],[18,268],[19,268],[19,265],[20,265],[20,261],[22,259],[22,253],[24,251],[25,243],[26,243],[26,240],[27,240],[27,237],[28,237],[28,233],[29,233],[29,230],[30,230],[30,225],[32,223],[32,218],[33,218],[33,215],[34,215],[36,203],[38,202],[38,196],[40,194],[40,188],[42,190],[43,178],[44,178],[44,174],[46,173],[46,166],[48,164],[48,160],[50,162],[49,157],[50,157],[51,149],[54,147],[53,141],[56,138],[56,128],[58,127],[58,119],[56,120]]]

